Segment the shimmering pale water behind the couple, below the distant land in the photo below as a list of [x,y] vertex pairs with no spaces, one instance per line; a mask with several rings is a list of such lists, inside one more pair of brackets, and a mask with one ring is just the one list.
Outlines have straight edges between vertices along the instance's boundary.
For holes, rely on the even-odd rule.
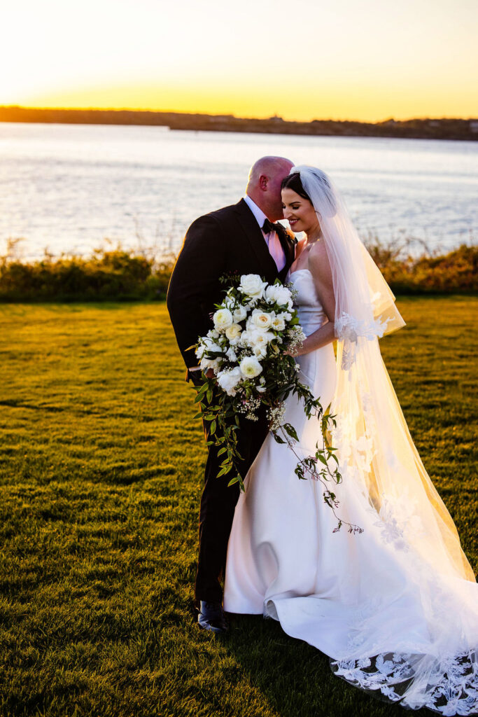
[[178,250],[188,225],[244,194],[260,156],[320,166],[362,237],[447,250],[478,235],[478,143],[0,123],[0,252],[23,237],[87,254],[105,239]]

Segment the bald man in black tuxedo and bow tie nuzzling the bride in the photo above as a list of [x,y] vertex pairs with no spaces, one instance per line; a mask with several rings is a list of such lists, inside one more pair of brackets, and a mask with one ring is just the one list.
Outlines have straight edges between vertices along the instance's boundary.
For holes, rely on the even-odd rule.
[[[186,351],[212,327],[210,315],[220,303],[224,288],[219,278],[228,272],[259,274],[269,283],[285,275],[295,257],[293,234],[281,224],[280,184],[293,163],[284,157],[262,157],[249,172],[246,196],[238,204],[225,206],[196,219],[186,232],[183,247],[168,288],[168,311],[176,340],[187,367],[187,379],[201,384],[201,371],[194,351]],[[211,371],[211,369],[210,369]],[[211,376],[213,376],[211,372]],[[206,439],[208,437],[205,425]],[[245,477],[267,435],[265,414],[259,422],[240,418],[239,471]],[[204,491],[199,511],[199,561],[196,602],[199,625],[212,632],[226,632],[222,609],[221,576],[239,483],[228,487],[219,473],[218,448],[209,446]]]

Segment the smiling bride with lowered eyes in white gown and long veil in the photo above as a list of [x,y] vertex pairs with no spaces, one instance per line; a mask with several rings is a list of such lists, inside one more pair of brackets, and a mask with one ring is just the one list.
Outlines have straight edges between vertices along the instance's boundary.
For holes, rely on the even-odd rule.
[[[224,609],[279,620],[336,675],[403,707],[477,714],[477,583],[378,346],[403,319],[324,172],[292,168],[282,201],[306,234],[290,272],[307,336],[297,363],[336,415],[343,527],[333,532],[322,486],[298,480],[296,455],[269,434],[236,505]],[[293,396],[285,408],[295,452],[314,455],[319,424]]]

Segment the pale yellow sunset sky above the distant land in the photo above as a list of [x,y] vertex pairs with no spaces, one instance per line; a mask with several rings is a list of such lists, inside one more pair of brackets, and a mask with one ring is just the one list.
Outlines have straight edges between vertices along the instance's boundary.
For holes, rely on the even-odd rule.
[[476,0],[16,0],[0,105],[478,117]]

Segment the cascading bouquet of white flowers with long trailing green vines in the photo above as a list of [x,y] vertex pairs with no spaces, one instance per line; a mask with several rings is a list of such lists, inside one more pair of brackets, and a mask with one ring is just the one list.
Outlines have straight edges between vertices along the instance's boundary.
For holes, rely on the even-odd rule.
[[[295,452],[295,473],[299,478],[308,473],[320,480],[325,486],[325,503],[334,510],[338,501],[325,481],[341,480],[335,448],[328,440],[328,425],[332,422],[335,426],[335,419],[323,411],[308,386],[300,383],[299,366],[290,355],[305,339],[293,307],[292,291],[278,279],[267,284],[257,274],[221,277],[221,282],[228,286],[224,300],[216,304],[214,328],[191,347],[196,349],[204,372],[204,383],[196,396],[201,411],[196,417],[210,422],[208,445],[219,446],[219,455],[224,456],[218,477],[234,470],[229,485],[239,483],[244,490],[237,469],[241,460],[237,448],[239,414],[254,421],[259,407],[265,406],[274,439],[287,443]],[[212,369],[214,378],[205,376],[208,369]],[[315,415],[320,420],[322,447],[317,445],[314,456],[297,454],[297,432],[291,424],[282,423],[284,402],[291,393],[302,400],[307,418]],[[334,467],[330,459],[335,460]],[[336,529],[341,525],[338,518]]]

